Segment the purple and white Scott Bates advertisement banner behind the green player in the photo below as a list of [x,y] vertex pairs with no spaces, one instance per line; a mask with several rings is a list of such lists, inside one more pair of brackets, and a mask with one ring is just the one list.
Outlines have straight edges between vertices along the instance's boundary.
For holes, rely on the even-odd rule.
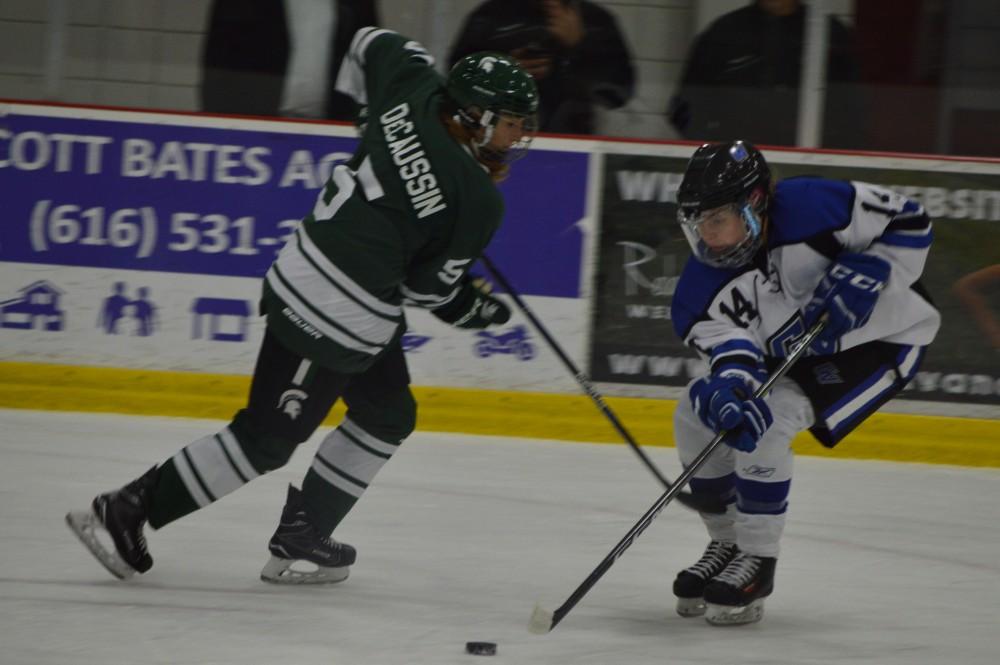
[[[355,144],[342,125],[0,105],[0,361],[248,373],[261,278]],[[488,251],[582,363],[590,155],[536,148]],[[407,311],[418,383],[575,387],[519,316],[476,335]]]

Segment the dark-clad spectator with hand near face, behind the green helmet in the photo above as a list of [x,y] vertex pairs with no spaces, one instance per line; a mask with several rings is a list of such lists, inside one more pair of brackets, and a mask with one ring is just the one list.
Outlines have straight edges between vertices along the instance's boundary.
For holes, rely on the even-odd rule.
[[619,108],[634,90],[614,16],[586,0],[487,0],[466,19],[449,65],[476,51],[507,53],[535,78],[543,132],[593,134],[594,105]]

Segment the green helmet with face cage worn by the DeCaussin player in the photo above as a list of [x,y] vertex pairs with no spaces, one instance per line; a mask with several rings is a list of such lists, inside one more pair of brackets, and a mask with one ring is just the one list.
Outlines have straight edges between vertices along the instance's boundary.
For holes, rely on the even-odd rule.
[[[451,68],[445,89],[456,118],[478,135],[470,145],[480,159],[509,164],[527,154],[538,127],[538,88],[516,60],[502,53],[467,55]],[[491,139],[503,116],[522,118],[523,133],[512,145],[496,147]]]

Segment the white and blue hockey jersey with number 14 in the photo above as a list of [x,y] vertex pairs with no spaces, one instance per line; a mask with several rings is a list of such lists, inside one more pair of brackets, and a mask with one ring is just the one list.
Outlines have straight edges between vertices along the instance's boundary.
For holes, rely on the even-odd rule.
[[753,262],[721,269],[692,257],[674,293],[674,328],[713,371],[786,356],[805,333],[813,290],[841,252],[879,256],[892,272],[868,322],[828,353],[934,339],[941,316],[918,281],[933,232],[919,203],[867,183],[799,177],[777,184],[768,218],[766,247]]

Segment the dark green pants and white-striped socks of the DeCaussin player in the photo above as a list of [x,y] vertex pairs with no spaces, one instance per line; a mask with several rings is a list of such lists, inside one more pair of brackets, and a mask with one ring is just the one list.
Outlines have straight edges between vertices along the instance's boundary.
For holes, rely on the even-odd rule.
[[338,399],[340,425],[320,443],[302,495],[320,533],[331,533],[410,435],[416,402],[396,343],[360,374],[316,365],[270,332],[261,343],[246,408],[222,431],[185,446],[160,466],[149,524],[160,528],[283,466]]

